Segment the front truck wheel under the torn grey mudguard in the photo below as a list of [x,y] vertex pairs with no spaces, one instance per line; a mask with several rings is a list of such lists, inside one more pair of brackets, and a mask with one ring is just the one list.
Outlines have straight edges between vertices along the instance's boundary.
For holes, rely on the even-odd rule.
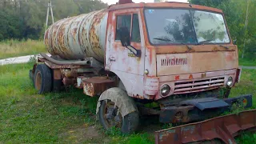
[[[117,88],[114,88],[114,89],[120,91],[120,89],[117,89]],[[115,94],[116,96],[119,97],[120,95],[118,94],[123,94],[123,93],[120,93],[118,91],[116,91]],[[113,94],[113,88],[112,88],[112,94]],[[127,95],[127,97],[129,96]],[[122,98],[122,96],[120,96],[119,98]],[[120,101],[120,102],[126,102],[126,101]],[[124,105],[125,104],[121,104],[121,106],[124,106]],[[134,103],[130,103],[129,105],[135,106]],[[99,119],[99,122],[102,124],[102,126],[106,130],[110,129],[111,127],[117,127],[117,128],[120,128],[122,134],[131,134],[138,128],[139,114],[138,114],[138,111],[134,111],[130,114],[126,114],[125,116],[122,116],[122,114],[118,110],[118,106],[116,106],[116,104],[110,99],[105,99],[101,101],[101,105],[99,106],[98,119]]]

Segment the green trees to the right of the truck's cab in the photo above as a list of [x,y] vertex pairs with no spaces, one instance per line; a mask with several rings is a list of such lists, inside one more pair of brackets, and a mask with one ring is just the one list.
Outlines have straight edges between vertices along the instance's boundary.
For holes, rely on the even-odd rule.
[[[256,59],[256,1],[253,0],[189,0],[192,4],[215,7],[223,10],[231,38],[237,39],[239,55],[245,51],[246,58]],[[248,25],[246,23],[246,8],[248,7]],[[243,45],[245,42],[245,46]]]

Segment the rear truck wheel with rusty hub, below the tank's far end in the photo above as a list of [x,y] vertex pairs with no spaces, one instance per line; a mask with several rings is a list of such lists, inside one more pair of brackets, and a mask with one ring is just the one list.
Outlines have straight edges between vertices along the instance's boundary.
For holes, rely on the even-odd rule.
[[38,94],[50,92],[52,86],[51,71],[46,64],[38,65],[34,72],[34,87]]

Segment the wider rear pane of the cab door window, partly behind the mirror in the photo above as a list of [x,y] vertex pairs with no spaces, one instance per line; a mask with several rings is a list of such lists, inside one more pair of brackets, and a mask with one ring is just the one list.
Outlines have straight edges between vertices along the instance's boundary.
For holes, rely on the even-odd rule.
[[128,30],[130,30],[130,24],[131,24],[131,15],[126,14],[126,15],[119,15],[117,17],[117,29],[116,29],[116,36],[115,40],[120,40],[120,34],[119,34],[119,29],[120,27],[127,27]]

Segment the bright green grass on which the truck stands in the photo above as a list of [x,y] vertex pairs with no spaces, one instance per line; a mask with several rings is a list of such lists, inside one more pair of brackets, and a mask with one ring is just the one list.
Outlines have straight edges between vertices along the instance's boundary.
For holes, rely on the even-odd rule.
[[[70,88],[40,95],[28,77],[32,63],[0,66],[0,143],[154,143],[154,130],[170,127],[147,124],[138,134],[104,131],[95,121],[97,97]],[[241,82],[230,96],[256,96],[256,70],[242,70]],[[254,106],[256,98],[254,98]],[[149,122],[150,123],[150,122]],[[238,143],[255,143],[256,134],[242,134]]]

